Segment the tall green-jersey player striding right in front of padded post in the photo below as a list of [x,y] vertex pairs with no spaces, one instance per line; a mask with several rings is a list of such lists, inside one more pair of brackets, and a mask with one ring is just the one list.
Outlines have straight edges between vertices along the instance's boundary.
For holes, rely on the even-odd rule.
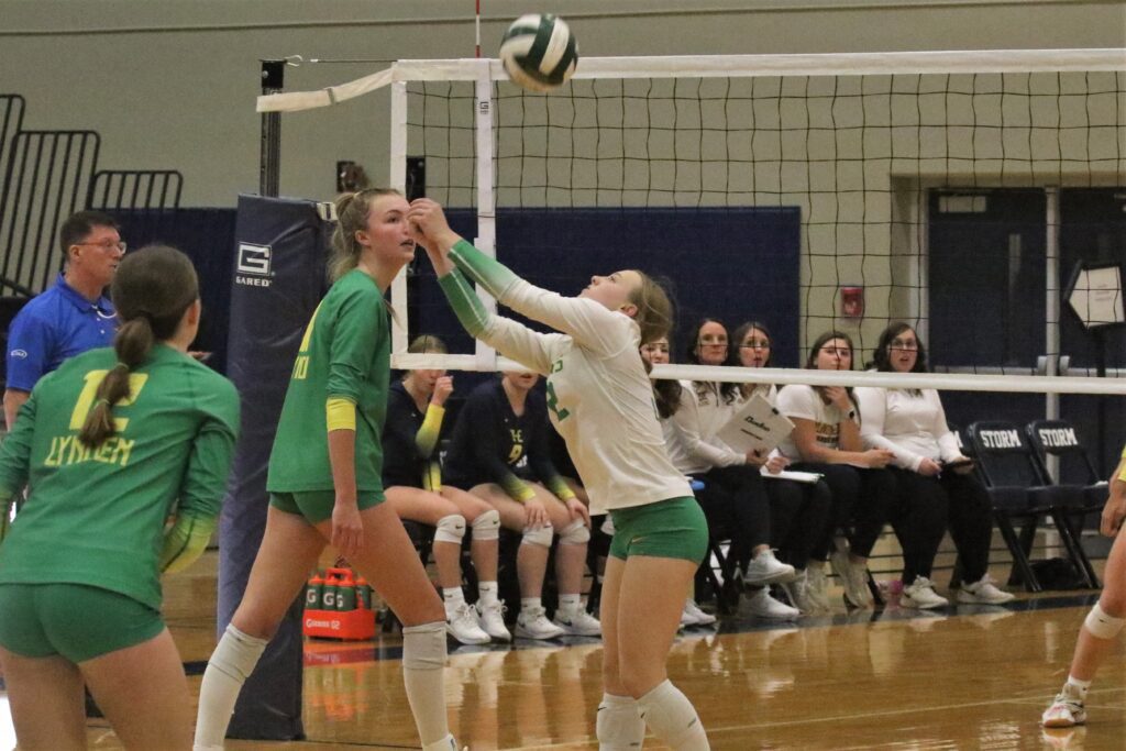
[[195,748],[221,749],[267,642],[332,543],[403,624],[403,682],[425,751],[456,749],[446,719],[446,611],[384,503],[381,436],[390,382],[384,292],[414,258],[406,199],[363,190],[337,202],[332,288],[305,329],[270,455],[266,533],[250,581],[199,690]]

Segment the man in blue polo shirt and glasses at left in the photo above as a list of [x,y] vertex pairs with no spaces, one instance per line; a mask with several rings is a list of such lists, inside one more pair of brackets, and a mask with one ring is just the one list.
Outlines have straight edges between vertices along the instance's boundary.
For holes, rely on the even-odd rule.
[[117,316],[104,290],[125,254],[117,230],[117,222],[100,212],[79,212],[60,227],[63,272],[8,329],[3,412],[9,430],[41,377],[70,357],[113,343]]

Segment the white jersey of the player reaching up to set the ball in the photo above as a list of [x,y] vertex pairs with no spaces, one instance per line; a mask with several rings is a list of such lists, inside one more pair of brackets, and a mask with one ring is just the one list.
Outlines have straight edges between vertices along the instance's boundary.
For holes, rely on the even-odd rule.
[[565,333],[538,333],[498,315],[481,339],[547,376],[552,424],[566,441],[591,511],[691,495],[665,452],[653,387],[627,315],[518,280],[498,295],[517,313]]

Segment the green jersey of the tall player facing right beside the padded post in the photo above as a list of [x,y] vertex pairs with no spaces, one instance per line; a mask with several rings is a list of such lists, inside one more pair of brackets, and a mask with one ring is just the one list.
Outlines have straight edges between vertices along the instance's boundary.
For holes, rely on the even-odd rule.
[[329,400],[356,405],[356,490],[383,498],[383,423],[391,378],[391,321],[375,279],[340,277],[305,328],[270,453],[271,493],[332,490]]

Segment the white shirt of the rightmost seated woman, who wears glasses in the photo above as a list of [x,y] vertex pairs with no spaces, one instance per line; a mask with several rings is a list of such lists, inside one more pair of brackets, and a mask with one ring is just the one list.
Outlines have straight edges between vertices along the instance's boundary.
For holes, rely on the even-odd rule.
[[933,388],[913,395],[903,388],[864,386],[855,393],[864,415],[860,437],[865,448],[894,452],[895,466],[918,472],[923,458],[939,462],[962,455]]

